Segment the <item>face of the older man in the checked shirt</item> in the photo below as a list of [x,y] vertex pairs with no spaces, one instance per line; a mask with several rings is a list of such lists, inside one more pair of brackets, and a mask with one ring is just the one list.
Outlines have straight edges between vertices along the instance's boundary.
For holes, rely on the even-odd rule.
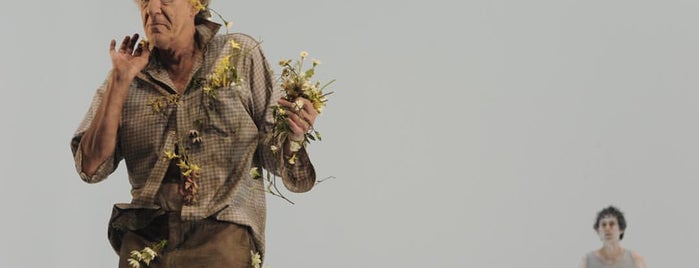
[[168,49],[192,38],[196,10],[188,0],[139,0],[143,30],[158,48]]

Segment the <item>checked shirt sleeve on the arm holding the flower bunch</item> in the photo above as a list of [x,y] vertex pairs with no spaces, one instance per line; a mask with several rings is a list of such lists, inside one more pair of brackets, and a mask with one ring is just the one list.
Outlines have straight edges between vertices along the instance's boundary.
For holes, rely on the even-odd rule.
[[274,154],[271,150],[272,139],[268,137],[274,131],[272,106],[277,105],[282,90],[277,86],[273,71],[259,46],[251,51],[246,65],[252,91],[254,119],[260,131],[257,154],[261,158],[262,166],[273,174],[281,176],[284,186],[289,191],[307,192],[313,188],[316,174],[305,149],[302,148],[297,152],[296,163],[293,165],[285,161],[281,154]]

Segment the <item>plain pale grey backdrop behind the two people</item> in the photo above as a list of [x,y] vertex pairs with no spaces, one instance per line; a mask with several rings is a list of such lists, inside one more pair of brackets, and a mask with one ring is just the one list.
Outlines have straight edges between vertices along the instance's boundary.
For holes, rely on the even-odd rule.
[[[459,3],[460,2],[460,3]],[[649,267],[699,253],[699,2],[221,1],[272,64],[307,50],[337,79],[313,191],[268,198],[267,265],[575,267],[626,212]],[[0,267],[115,267],[122,165],[77,176],[69,139],[142,32],[124,1],[0,9]],[[276,66],[276,65],[275,65]],[[278,69],[277,69],[278,70]]]

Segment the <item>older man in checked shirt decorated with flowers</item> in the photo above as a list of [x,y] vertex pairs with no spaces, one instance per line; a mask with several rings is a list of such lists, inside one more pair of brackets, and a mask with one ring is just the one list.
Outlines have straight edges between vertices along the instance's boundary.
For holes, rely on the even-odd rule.
[[[255,40],[216,35],[207,0],[137,3],[148,42],[111,41],[112,70],[71,140],[77,171],[96,183],[126,163],[132,201],[116,204],[109,223],[119,267],[250,267],[264,255],[266,214],[263,181],[250,171],[310,190],[305,149],[287,159],[317,112],[306,99],[280,99]],[[275,152],[274,105],[292,130]],[[132,256],[146,247],[157,251],[152,261]]]

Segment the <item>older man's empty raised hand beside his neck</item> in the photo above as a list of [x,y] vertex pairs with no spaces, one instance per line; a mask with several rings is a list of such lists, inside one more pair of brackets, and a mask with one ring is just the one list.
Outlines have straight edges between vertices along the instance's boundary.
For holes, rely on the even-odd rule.
[[137,43],[138,34],[126,36],[116,50],[116,40],[109,44],[109,56],[117,79],[131,81],[148,64],[150,49],[144,42]]

